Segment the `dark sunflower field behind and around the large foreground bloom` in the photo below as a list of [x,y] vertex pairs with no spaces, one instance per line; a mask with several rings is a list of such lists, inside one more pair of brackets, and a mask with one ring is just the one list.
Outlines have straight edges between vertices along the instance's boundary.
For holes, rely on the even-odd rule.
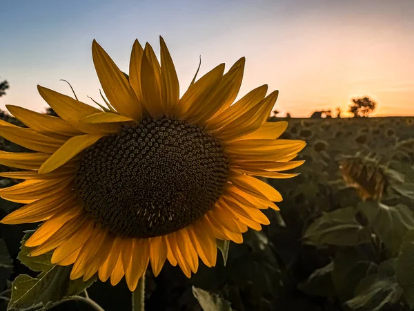
[[[414,308],[414,117],[288,122],[282,138],[306,140],[299,156],[306,162],[295,178],[267,180],[284,196],[279,212],[265,211],[270,225],[230,243],[226,265],[221,257],[213,268],[200,263],[192,279],[170,265],[157,278],[148,270],[146,310],[201,310],[199,303],[237,311]],[[14,182],[0,180],[2,187]],[[19,207],[0,204],[0,218]],[[37,274],[16,259],[23,230],[36,226],[0,225],[0,310],[15,276]],[[210,292],[216,309],[205,307],[201,290],[197,301],[193,286]],[[88,292],[106,311],[130,308],[125,281],[115,288],[98,281]],[[68,302],[53,310],[92,309]]]

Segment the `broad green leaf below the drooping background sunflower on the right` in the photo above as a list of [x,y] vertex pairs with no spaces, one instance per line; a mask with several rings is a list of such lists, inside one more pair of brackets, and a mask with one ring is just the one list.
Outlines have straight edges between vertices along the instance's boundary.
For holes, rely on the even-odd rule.
[[355,218],[356,209],[346,207],[323,213],[306,229],[306,243],[322,246],[355,246],[370,241],[368,228]]

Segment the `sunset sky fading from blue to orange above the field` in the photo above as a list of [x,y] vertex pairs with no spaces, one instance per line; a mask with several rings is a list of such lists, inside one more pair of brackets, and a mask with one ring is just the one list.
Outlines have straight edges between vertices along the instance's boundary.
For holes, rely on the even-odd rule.
[[[201,55],[200,74],[242,56],[239,97],[262,84],[279,90],[281,115],[347,110],[368,95],[375,115],[414,115],[414,0],[4,0],[0,81],[14,104],[44,111],[37,84],[99,100],[91,44],[128,72],[135,39],[159,53],[159,35],[177,68],[181,95]],[[342,113],[342,115],[346,115]]]

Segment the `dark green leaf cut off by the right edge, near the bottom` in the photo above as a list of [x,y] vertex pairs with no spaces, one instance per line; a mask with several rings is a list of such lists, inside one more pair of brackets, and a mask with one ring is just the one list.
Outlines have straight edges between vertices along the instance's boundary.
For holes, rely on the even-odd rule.
[[397,281],[410,308],[414,308],[414,230],[407,232],[397,257]]

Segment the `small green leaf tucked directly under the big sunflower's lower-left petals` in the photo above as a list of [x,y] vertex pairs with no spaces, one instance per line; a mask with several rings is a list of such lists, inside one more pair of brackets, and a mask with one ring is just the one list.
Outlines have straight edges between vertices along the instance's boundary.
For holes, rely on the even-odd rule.
[[32,251],[32,248],[24,245],[33,233],[34,230],[28,230],[25,232],[25,235],[21,240],[21,251],[17,255],[17,259],[19,259],[23,265],[26,265],[26,267],[29,267],[33,271],[47,272],[53,267],[52,263],[50,263],[52,253],[49,252],[39,256],[28,256],[28,254]]

